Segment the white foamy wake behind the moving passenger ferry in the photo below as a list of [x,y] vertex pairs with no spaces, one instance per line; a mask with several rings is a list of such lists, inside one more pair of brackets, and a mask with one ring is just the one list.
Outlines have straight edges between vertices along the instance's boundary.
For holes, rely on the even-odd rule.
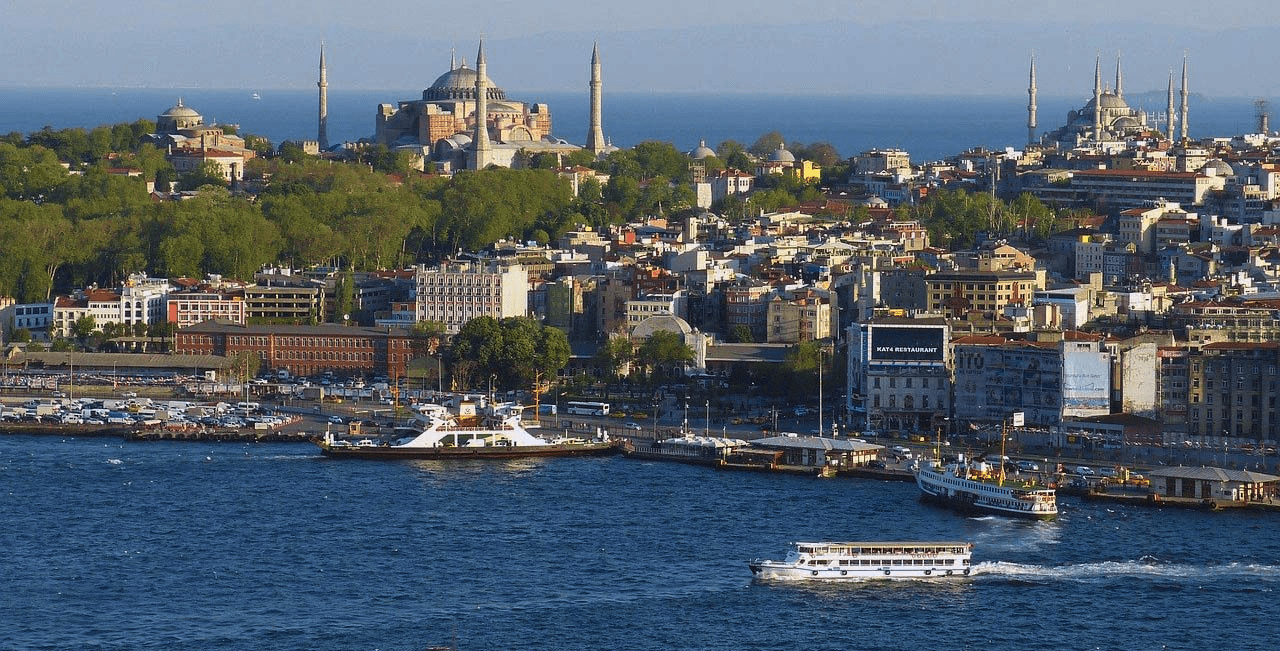
[[1138,560],[1106,560],[1078,565],[1030,565],[1023,563],[984,561],[973,567],[978,579],[1007,579],[1025,583],[1074,581],[1096,583],[1117,578],[1147,578],[1153,581],[1253,581],[1280,583],[1280,565],[1258,563],[1222,563],[1196,565],[1165,563],[1153,556]]

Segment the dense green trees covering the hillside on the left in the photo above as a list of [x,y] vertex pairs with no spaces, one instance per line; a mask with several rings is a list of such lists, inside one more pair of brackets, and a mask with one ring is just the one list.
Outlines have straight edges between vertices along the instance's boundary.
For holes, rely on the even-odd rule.
[[[0,295],[45,301],[93,283],[116,285],[137,271],[248,279],[278,262],[399,267],[502,238],[547,242],[598,212],[540,169],[401,180],[365,165],[280,157],[247,165],[270,179],[261,194],[233,194],[209,170],[174,174],[140,141],[148,130],[154,125],[141,120],[0,139]],[[140,178],[114,168],[202,192],[155,202]]]

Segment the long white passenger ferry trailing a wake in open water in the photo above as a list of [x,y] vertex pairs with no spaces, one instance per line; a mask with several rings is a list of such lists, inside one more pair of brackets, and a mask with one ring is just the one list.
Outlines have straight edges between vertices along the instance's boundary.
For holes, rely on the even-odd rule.
[[749,565],[767,581],[963,578],[972,554],[972,542],[796,542],[785,560]]

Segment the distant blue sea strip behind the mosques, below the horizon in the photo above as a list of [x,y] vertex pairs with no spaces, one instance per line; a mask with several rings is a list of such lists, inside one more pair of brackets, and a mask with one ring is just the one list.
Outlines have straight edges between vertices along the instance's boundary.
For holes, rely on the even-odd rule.
[[[154,120],[178,98],[206,122],[239,124],[243,132],[285,139],[316,137],[316,91],[155,88],[6,88],[0,90],[0,133]],[[586,139],[588,96],[567,92],[524,92],[508,96],[550,106],[553,132],[570,142]],[[421,97],[421,90],[329,90],[330,142],[372,137],[378,104]],[[1070,109],[1088,97],[1044,97],[1039,130],[1057,128]],[[1134,102],[1135,105],[1137,101]],[[1158,102],[1157,102],[1158,104]],[[1160,106],[1147,109],[1161,110]],[[1254,130],[1249,98],[1204,98],[1192,102],[1190,136],[1235,136]],[[646,139],[666,141],[682,151],[700,139],[712,147],[724,139],[751,145],[777,130],[791,142],[828,142],[842,156],[868,148],[897,147],[913,160],[938,160],[974,146],[1004,148],[1027,142],[1027,97],[837,96],[837,95],[710,95],[609,93],[603,101],[605,137],[621,147]]]

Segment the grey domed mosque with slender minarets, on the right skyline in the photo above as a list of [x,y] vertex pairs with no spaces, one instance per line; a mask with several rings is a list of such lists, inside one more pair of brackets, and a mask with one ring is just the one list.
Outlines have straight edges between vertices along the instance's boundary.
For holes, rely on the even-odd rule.
[[[1053,145],[1059,148],[1096,146],[1103,142],[1116,142],[1151,134],[1156,130],[1153,116],[1147,111],[1129,106],[1124,98],[1124,77],[1120,70],[1120,58],[1116,58],[1115,87],[1102,84],[1102,59],[1093,68],[1093,97],[1080,109],[1066,114],[1066,124],[1044,134],[1036,136],[1036,58],[1030,64],[1030,86],[1027,88],[1030,101],[1027,105],[1027,142]],[[1174,139],[1174,125],[1180,124],[1180,139],[1187,139],[1187,60],[1183,60],[1181,110],[1174,114],[1174,75],[1169,74],[1167,130],[1162,134]]]

